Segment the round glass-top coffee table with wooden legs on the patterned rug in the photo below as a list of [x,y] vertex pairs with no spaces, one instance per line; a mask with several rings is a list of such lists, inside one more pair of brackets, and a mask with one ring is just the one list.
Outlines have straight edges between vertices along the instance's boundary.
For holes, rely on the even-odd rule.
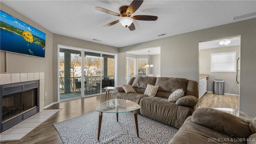
[[130,100],[112,99],[99,104],[96,107],[96,111],[100,112],[99,125],[98,125],[98,140],[100,139],[100,128],[101,128],[103,112],[116,113],[116,121],[118,122],[118,113],[133,111],[135,125],[136,125],[136,132],[137,132],[137,136],[139,137],[138,117],[137,117],[137,110],[139,109],[140,109],[140,105]]

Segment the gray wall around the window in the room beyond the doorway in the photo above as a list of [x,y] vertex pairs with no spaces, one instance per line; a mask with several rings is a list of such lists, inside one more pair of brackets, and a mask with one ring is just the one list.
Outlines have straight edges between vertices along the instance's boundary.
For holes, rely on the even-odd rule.
[[211,48],[200,50],[200,74],[209,74],[207,81],[207,91],[213,92],[213,80],[222,79],[224,83],[224,93],[238,94],[238,83],[236,82],[236,72],[210,72],[211,54],[219,52],[236,52],[236,59],[240,58],[240,46],[228,46],[222,48]]

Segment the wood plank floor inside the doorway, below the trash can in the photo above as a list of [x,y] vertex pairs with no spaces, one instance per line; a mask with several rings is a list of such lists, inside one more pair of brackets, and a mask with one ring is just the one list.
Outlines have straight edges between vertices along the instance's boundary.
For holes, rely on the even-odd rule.
[[238,96],[206,92],[199,100],[199,108],[234,108],[238,110]]

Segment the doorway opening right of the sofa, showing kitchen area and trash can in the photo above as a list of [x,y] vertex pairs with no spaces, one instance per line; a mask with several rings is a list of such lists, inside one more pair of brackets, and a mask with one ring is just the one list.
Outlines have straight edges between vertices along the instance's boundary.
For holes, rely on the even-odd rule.
[[240,36],[199,42],[199,108],[239,110]]

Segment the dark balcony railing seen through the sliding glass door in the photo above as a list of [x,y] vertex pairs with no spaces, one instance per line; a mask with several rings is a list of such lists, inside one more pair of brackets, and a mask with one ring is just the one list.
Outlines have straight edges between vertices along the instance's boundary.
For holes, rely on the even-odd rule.
[[[109,79],[114,79],[114,76],[108,76]],[[70,92],[76,91],[75,79],[81,82],[81,77],[70,77]],[[101,78],[103,79],[103,77]],[[84,82],[86,82],[85,90],[92,90],[92,86],[96,86],[96,82],[100,82],[100,76],[86,76],[84,77]],[[65,82],[64,77],[60,77],[60,94],[64,93]]]

